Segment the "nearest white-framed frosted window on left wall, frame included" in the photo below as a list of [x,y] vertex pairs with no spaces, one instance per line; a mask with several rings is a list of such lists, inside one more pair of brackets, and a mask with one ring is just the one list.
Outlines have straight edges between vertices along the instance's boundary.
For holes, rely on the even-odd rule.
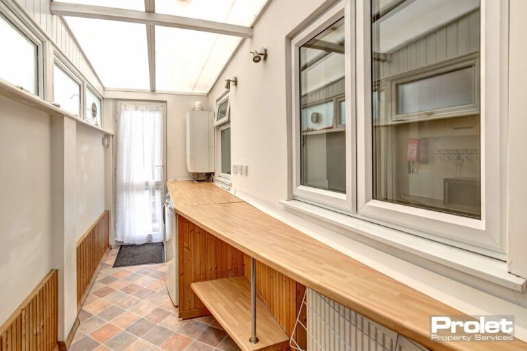
[[0,79],[44,98],[44,43],[0,3]]

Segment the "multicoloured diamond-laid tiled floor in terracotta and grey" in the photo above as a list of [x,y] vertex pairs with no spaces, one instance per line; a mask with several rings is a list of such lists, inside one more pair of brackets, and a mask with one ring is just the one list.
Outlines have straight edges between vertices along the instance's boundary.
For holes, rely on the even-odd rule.
[[214,317],[177,317],[165,264],[112,268],[117,251],[86,298],[70,351],[239,350]]

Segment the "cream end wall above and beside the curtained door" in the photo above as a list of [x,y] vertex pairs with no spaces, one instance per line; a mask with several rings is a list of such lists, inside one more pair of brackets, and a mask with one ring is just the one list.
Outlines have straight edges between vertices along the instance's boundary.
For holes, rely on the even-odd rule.
[[[185,163],[185,115],[194,108],[195,101],[201,101],[204,110],[209,110],[209,100],[202,95],[175,95],[158,93],[132,93],[105,90],[106,113],[115,117],[117,99],[141,101],[165,101],[167,104],[167,180],[189,179]],[[113,106],[113,107],[112,107]],[[111,112],[110,112],[111,111]],[[106,119],[105,119],[106,122]],[[109,127],[108,122],[105,125]],[[116,138],[118,136],[115,136]]]

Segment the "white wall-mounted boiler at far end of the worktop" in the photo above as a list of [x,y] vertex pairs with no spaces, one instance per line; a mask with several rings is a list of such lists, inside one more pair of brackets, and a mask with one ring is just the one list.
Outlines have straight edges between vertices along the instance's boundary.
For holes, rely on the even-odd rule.
[[214,112],[187,112],[187,171],[210,173],[214,171]]

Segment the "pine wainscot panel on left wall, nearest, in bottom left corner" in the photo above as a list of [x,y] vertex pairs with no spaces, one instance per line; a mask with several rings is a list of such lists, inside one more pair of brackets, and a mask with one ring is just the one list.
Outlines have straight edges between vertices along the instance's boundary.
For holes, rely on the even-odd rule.
[[0,327],[0,351],[53,351],[58,335],[58,271],[52,270]]

